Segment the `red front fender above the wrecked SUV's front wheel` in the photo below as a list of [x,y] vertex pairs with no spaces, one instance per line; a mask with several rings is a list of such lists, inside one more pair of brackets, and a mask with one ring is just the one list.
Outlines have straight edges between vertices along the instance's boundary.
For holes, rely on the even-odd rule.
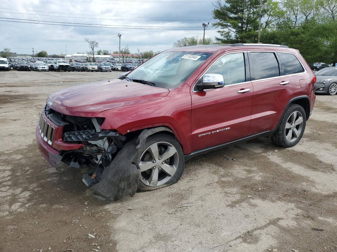
[[170,90],[161,99],[106,110],[97,117],[105,118],[101,129],[116,129],[121,134],[168,127],[182,144],[184,154],[191,152],[191,95],[187,84]]

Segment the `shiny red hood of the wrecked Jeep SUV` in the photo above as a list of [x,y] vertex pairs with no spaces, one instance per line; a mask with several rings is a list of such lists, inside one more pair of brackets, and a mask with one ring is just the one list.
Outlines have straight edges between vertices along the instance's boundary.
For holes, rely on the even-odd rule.
[[104,110],[149,102],[165,97],[170,91],[119,79],[92,82],[52,93],[47,103],[62,114],[95,117]]

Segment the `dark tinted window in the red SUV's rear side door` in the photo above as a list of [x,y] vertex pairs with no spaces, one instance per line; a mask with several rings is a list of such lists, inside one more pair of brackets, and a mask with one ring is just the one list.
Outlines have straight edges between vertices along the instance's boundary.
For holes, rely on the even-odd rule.
[[273,52],[251,52],[255,80],[280,76],[278,62]]

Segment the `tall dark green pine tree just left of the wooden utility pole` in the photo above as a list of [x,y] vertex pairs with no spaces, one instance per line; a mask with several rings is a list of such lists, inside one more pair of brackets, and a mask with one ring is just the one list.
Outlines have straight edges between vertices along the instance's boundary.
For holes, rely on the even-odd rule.
[[258,29],[258,0],[237,0],[213,3],[213,18],[218,22],[212,25],[220,28],[217,32],[221,43],[256,43]]

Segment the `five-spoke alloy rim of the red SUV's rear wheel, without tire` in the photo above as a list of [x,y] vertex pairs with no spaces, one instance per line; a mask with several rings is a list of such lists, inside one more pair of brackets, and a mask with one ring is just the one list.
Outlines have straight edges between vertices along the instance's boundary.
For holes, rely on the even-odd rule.
[[300,137],[303,129],[303,116],[301,112],[294,111],[285,124],[285,138],[288,142],[294,142]]

